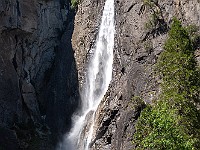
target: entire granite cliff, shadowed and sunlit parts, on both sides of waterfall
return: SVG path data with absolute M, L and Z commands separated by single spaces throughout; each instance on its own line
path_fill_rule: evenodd
M 105 0 L 1 0 L 0 149 L 54 149 L 71 127 Z M 135 123 L 159 93 L 153 68 L 173 17 L 200 26 L 199 0 L 115 1 L 113 79 L 91 149 L 133 149 Z M 156 18 L 155 12 L 160 12 Z M 199 45 L 196 59 L 200 64 Z

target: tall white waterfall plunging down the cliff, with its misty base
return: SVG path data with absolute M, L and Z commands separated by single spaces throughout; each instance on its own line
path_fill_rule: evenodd
M 57 150 L 88 150 L 93 138 L 95 112 L 112 79 L 114 0 L 106 0 L 95 48 L 92 49 L 82 95 L 82 108 L 72 117 L 73 127 Z

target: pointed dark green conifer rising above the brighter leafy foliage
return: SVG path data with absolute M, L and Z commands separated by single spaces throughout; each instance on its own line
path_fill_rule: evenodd
M 194 100 L 198 97 L 200 73 L 196 67 L 190 36 L 178 20 L 174 20 L 157 68 L 163 78 L 163 90 L 173 88 L 185 92 Z

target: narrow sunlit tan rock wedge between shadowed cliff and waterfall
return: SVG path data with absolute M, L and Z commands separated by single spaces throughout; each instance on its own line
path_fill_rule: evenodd
M 84 83 L 87 62 L 94 48 L 105 0 L 83 0 L 74 21 L 72 47 L 75 51 L 80 87 Z

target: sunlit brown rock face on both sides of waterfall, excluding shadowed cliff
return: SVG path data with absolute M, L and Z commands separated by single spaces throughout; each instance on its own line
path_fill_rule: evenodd
M 144 108 L 136 99 L 139 97 L 151 103 L 159 93 L 159 79 L 153 70 L 173 17 L 184 25 L 200 26 L 198 0 L 156 0 L 152 3 L 153 7 L 142 0 L 115 1 L 113 80 L 96 113 L 91 149 L 134 149 L 134 124 Z M 101 14 L 96 12 L 102 11 L 103 4 L 103 1 L 83 0 L 78 8 L 72 43 L 80 81 L 84 81 L 83 68 L 87 68 L 87 55 L 98 32 Z M 152 17 L 155 12 L 158 12 L 156 19 Z M 198 52 L 196 56 L 199 59 Z

